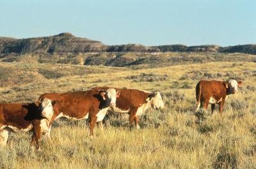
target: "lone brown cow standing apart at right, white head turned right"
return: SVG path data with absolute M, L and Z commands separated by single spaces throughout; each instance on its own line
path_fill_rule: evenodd
M 209 103 L 211 103 L 211 111 L 213 113 L 215 109 L 215 103 L 220 105 L 219 111 L 222 115 L 223 105 L 228 95 L 235 94 L 238 91 L 238 87 L 241 87 L 242 82 L 236 80 L 228 81 L 207 81 L 201 80 L 196 84 L 196 105 L 198 108 L 207 109 Z

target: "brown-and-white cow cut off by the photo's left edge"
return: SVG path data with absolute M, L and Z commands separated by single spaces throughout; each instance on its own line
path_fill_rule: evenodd
M 40 103 L 0 103 L 0 145 L 6 146 L 8 131 L 17 133 L 33 129 L 31 146 L 40 150 L 40 134 L 47 132 L 53 112 L 40 114 L 38 107 L 47 105 L 51 108 L 52 104 L 49 99 Z

